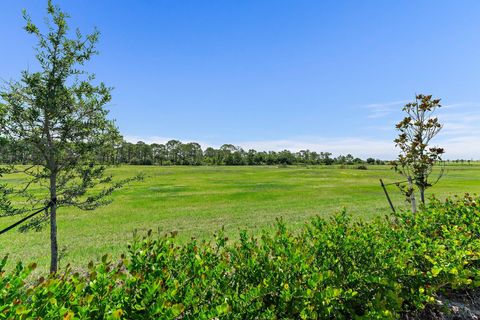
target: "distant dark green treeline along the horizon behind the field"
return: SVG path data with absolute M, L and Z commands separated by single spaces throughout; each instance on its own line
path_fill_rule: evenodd
M 32 152 L 26 142 L 0 141 L 0 162 L 27 164 L 35 163 L 38 155 Z M 301 150 L 245 151 L 232 144 L 224 144 L 219 149 L 202 149 L 196 142 L 182 143 L 170 140 L 165 144 L 122 142 L 114 147 L 106 147 L 98 155 L 101 163 L 134 165 L 291 165 L 291 164 L 383 164 L 379 159 L 366 161 L 351 154 L 332 157 L 329 152 Z

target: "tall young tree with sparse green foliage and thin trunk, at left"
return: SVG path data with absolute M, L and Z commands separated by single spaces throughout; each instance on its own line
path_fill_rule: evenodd
M 48 214 L 32 220 L 27 228 L 49 222 L 50 271 L 56 272 L 57 210 L 66 206 L 93 210 L 109 203 L 111 192 L 126 181 L 113 183 L 104 174 L 106 168 L 96 163 L 99 150 L 121 141 L 104 108 L 110 88 L 93 84 L 94 76 L 81 70 L 97 54 L 99 33 L 83 36 L 77 29 L 70 37 L 69 16 L 51 1 L 47 13 L 47 29 L 42 33 L 24 12 L 25 30 L 38 40 L 40 71 L 24 71 L 21 80 L 7 83 L 0 92 L 0 136 L 28 143 L 38 154 L 32 165 L 13 165 L 9 172 L 27 177 L 25 185 L 16 189 L 17 196 L 26 197 L 31 207 L 48 207 Z M 30 191 L 32 186 L 35 192 Z M 94 187 L 100 191 L 94 192 Z

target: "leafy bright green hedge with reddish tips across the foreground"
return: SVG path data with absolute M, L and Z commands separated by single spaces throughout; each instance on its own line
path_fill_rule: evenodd
M 182 246 L 148 235 L 119 261 L 33 283 L 35 266 L 18 264 L 0 273 L 0 318 L 395 319 L 480 286 L 476 201 L 432 199 L 417 216 L 372 223 L 340 213 L 295 234 L 278 222 L 233 243 L 221 233 Z

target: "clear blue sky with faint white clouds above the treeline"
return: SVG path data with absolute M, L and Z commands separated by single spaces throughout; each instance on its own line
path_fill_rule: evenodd
M 480 158 L 479 1 L 56 1 L 101 54 L 130 141 L 310 148 L 392 158 L 415 93 L 442 98 L 437 143 Z M 0 2 L 0 79 L 36 67 L 21 10 Z

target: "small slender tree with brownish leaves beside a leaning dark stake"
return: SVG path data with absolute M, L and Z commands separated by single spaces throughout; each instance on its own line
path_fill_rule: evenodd
M 393 162 L 393 167 L 409 182 L 404 191 L 410 198 L 413 212 L 417 210 L 414 186 L 418 188 L 422 204 L 425 204 L 425 190 L 438 182 L 443 173 L 442 169 L 436 181 L 430 181 L 433 168 L 442 160 L 444 153 L 442 148 L 429 146 L 442 129 L 438 118 L 434 116 L 440 107 L 440 99 L 432 99 L 431 95 L 417 95 L 414 102 L 405 105 L 403 111 L 407 115 L 396 125 L 400 134 L 395 143 L 400 148 L 400 154 Z

